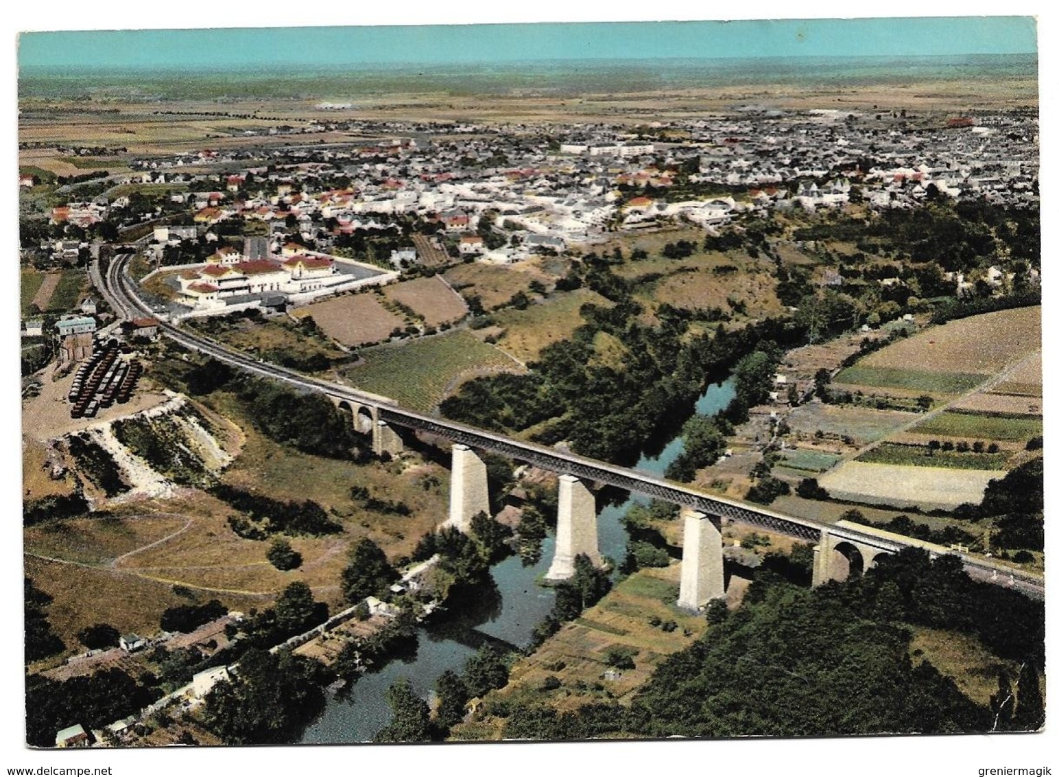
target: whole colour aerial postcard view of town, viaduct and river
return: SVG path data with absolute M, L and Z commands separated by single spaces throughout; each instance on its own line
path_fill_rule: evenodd
M 30 747 L 1043 727 L 1031 18 L 24 33 L 17 121 Z

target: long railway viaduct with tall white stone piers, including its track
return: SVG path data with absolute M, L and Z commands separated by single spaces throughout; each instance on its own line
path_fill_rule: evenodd
M 131 317 L 151 314 L 151 308 L 140 299 L 134 284 L 127 276 L 126 261 L 112 262 L 105 278 L 97 270 L 94 272 L 93 277 L 100 281 L 100 290 L 122 315 Z M 450 440 L 452 482 L 449 490 L 449 515 L 445 526 L 467 532 L 470 520 L 477 513 L 489 511 L 486 467 L 475 453 L 478 451 L 489 451 L 556 473 L 559 476 L 556 545 L 546 575 L 546 579 L 551 581 L 572 577 L 574 559 L 579 554 L 587 555 L 593 564 L 604 563 L 598 548 L 596 500 L 592 491 L 600 485 L 612 485 L 680 506 L 684 542 L 678 603 L 692 611 L 703 607 L 712 599 L 724 596 L 721 544 L 723 522 L 747 524 L 811 543 L 813 585 L 862 573 L 881 557 L 895 553 L 903 547 L 925 548 L 932 555 L 951 552 L 941 546 L 846 522 L 824 524 L 783 515 L 759 505 L 707 495 L 683 483 L 628 467 L 401 408 L 388 398 L 255 359 L 164 321 L 160 323 L 159 331 L 185 348 L 233 367 L 282 381 L 302 390 L 323 393 L 340 410 L 352 414 L 354 427 L 371 437 L 372 451 L 377 455 L 401 453 L 403 442 L 396 431 L 397 427 L 413 434 L 426 432 Z M 997 566 L 987 560 L 963 553 L 957 555 L 965 569 L 976 571 L 980 579 L 984 579 L 983 571 L 992 572 L 989 580 L 1001 582 Z M 1004 571 L 1005 575 L 1008 573 L 1008 570 Z M 1004 582 L 1013 585 L 1015 575 L 1010 575 L 1009 580 L 1005 577 Z M 1043 585 L 1033 576 L 1020 575 L 1020 583 L 1030 593 L 1040 587 L 1043 595 Z

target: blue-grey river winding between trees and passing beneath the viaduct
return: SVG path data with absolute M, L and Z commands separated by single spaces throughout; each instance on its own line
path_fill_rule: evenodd
M 696 412 L 714 416 L 728 407 L 735 396 L 735 381 L 711 385 L 695 404 Z M 634 469 L 662 475 L 666 466 L 684 449 L 684 440 L 676 436 L 656 456 L 641 456 Z M 628 535 L 622 516 L 635 502 L 646 504 L 647 497 L 631 495 L 621 505 L 609 505 L 599 511 L 599 551 L 615 562 L 625 558 Z M 418 630 L 414 652 L 392 659 L 382 670 L 363 675 L 347 694 L 328 696 L 324 710 L 305 729 L 306 744 L 351 744 L 370 742 L 390 722 L 387 689 L 398 678 L 407 677 L 412 689 L 423 697 L 433 690 L 434 683 L 446 669 L 461 672 L 479 646 L 490 640 L 507 642 L 517 648 L 530 643 L 533 631 L 551 612 L 555 600 L 552 588 L 537 581 L 548 571 L 555 538 L 549 536 L 541 548 L 540 561 L 523 566 L 513 555 L 492 567 L 496 588 L 488 591 L 470 610 L 447 622 Z

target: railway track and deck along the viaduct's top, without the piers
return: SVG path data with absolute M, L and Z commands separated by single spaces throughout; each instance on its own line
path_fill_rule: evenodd
M 100 287 L 101 294 L 103 294 L 114 311 L 119 312 L 123 317 L 131 318 L 142 315 L 157 315 L 137 294 L 134 284 L 126 271 L 127 263 L 127 257 L 110 262 L 106 278 L 101 278 L 101 282 L 103 283 Z M 97 277 L 100 277 L 100 273 L 94 273 L 93 278 Z M 378 408 L 380 420 L 395 426 L 438 435 L 453 442 L 501 454 L 551 472 L 574 475 L 584 480 L 613 485 L 624 491 L 635 492 L 651 498 L 684 505 L 703 513 L 719 515 L 807 542 L 819 542 L 822 531 L 832 529 L 830 525 L 822 522 L 783 515 L 759 505 L 704 494 L 689 485 L 664 480 L 628 467 L 617 466 L 605 461 L 590 459 L 585 456 L 578 456 L 573 453 L 531 442 L 515 440 L 486 429 L 479 429 L 466 424 L 400 408 L 397 406 L 397 403 L 387 398 L 357 391 L 347 386 L 303 375 L 279 365 L 255 359 L 221 346 L 214 340 L 189 333 L 164 321 L 159 324 L 159 331 L 184 348 L 212 356 L 218 361 L 229 364 L 252 374 L 281 381 L 289 386 L 306 391 L 322 392 L 339 401 L 344 400 L 352 404 Z M 922 543 L 913 538 L 907 538 L 903 542 L 880 541 L 877 535 L 860 533 L 851 529 L 843 529 L 842 534 L 863 542 L 870 547 L 885 548 L 892 552 L 901 547 L 923 546 Z M 1012 576 L 1010 582 L 1012 586 L 1024 589 L 1029 594 L 1038 594 L 1039 591 L 1040 595 L 1043 595 L 1043 578 L 1023 571 L 1011 571 L 1009 568 L 994 564 L 987 559 L 963 553 L 955 554 L 961 557 L 965 568 L 974 570 L 975 575 L 984 573 L 991 582 L 1008 582 L 1008 576 Z M 992 575 L 993 570 L 998 570 L 995 579 Z M 1003 576 L 1003 580 L 1000 576 Z

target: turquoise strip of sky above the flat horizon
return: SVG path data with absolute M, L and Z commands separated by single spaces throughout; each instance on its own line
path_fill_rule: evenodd
M 28 32 L 19 65 L 203 68 L 261 64 L 511 63 L 1037 51 L 1031 17 L 452 24 Z

